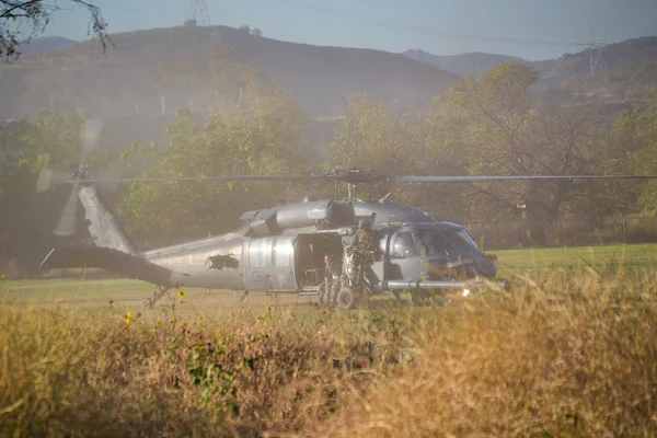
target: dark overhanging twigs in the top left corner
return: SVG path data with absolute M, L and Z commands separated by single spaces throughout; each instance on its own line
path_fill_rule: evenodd
M 84 8 L 89 12 L 89 34 L 99 38 L 104 51 L 110 36 L 107 23 L 105 23 L 100 8 L 84 0 L 65 1 Z M 20 54 L 16 51 L 16 47 L 43 33 L 50 23 L 53 14 L 60 9 L 58 3 L 49 3 L 44 0 L 0 0 L 0 57 L 18 58 Z M 23 28 L 30 31 L 24 32 Z

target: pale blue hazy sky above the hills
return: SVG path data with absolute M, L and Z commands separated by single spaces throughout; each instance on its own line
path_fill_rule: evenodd
M 169 27 L 191 16 L 189 0 L 94 3 L 111 32 Z M 59 4 L 69 8 L 64 0 Z M 487 51 L 533 60 L 580 51 L 585 46 L 558 43 L 586 44 L 606 30 L 610 43 L 657 35 L 657 0 L 207 0 L 207 5 L 210 24 L 257 26 L 276 39 L 437 55 Z M 45 34 L 84 39 L 87 28 L 88 15 L 70 7 Z

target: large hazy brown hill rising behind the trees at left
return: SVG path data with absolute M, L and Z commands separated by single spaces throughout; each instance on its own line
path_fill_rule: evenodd
M 177 87 L 166 90 L 168 111 L 173 111 L 186 106 L 191 83 L 206 93 L 216 91 L 216 83 L 203 83 L 198 70 L 206 68 L 199 64 L 211 50 L 222 48 L 231 48 L 231 57 L 290 92 L 313 117 L 333 114 L 355 92 L 414 108 L 457 79 L 401 54 L 286 43 L 226 26 L 137 31 L 113 39 L 115 47 L 106 56 L 97 44 L 84 42 L 27 54 L 0 68 L 0 93 L 5 96 L 0 118 L 50 107 L 83 107 L 99 116 L 161 112 L 161 90 L 155 90 L 152 74 L 163 64 L 178 65 Z M 232 92 L 237 96 L 238 88 Z

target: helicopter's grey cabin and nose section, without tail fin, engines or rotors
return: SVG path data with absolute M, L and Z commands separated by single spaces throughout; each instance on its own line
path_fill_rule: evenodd
M 299 292 L 324 279 L 324 256 L 345 261 L 356 227 L 295 230 L 278 235 L 208 238 L 143 253 L 171 269 L 172 284 L 209 289 Z M 379 252 L 371 265 L 379 289 L 418 281 L 494 279 L 497 268 L 466 231 L 449 222 L 378 224 Z M 442 243 L 442 246 L 439 244 Z M 434 245 L 434 246 L 433 246 Z M 436 247 L 435 247 L 436 246 Z M 348 263 L 341 263 L 347 275 Z M 404 287 L 406 288 L 406 287 Z

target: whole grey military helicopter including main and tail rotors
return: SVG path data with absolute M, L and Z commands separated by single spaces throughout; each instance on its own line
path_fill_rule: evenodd
M 92 142 L 87 132 L 83 150 Z M 88 152 L 85 152 L 88 153 Z M 69 183 L 71 197 L 55 230 L 71 235 L 76 230 L 78 198 L 84 207 L 85 226 L 93 247 L 55 247 L 42 268 L 95 267 L 150 283 L 157 287 L 143 301 L 152 308 L 175 288 L 195 287 L 318 295 L 323 306 L 351 309 L 377 295 L 411 292 L 416 304 L 431 295 L 470 295 L 473 290 L 499 289 L 496 256 L 482 252 L 468 231 L 435 220 L 414 207 L 381 199 L 358 199 L 359 184 L 373 182 L 477 182 L 495 180 L 653 178 L 635 175 L 533 175 L 533 176 L 413 176 L 384 175 L 368 170 L 344 169 L 318 175 L 219 175 L 166 178 L 92 178 L 87 164 L 67 178 L 42 171 L 37 192 Z M 140 251 L 125 231 L 99 184 L 161 181 L 326 181 L 348 186 L 344 199 L 303 198 L 302 201 L 241 216 L 233 232 L 166 247 Z M 357 266 L 351 241 L 359 223 L 367 221 L 379 242 L 373 263 Z M 337 261 L 337 275 L 327 275 L 325 261 Z M 364 275 L 362 269 L 368 275 Z M 366 278 L 367 277 L 367 278 Z

